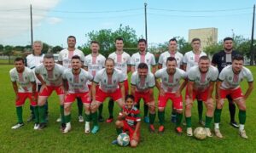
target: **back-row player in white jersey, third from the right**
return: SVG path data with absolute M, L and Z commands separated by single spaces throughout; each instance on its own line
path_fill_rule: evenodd
M 183 54 L 181 54 L 177 51 L 176 38 L 170 39 L 168 49 L 169 50 L 167 50 L 166 52 L 160 54 L 160 58 L 158 61 L 158 69 L 161 69 L 162 67 L 164 67 L 164 68 L 166 67 L 166 59 L 168 57 L 174 57 L 177 61 L 177 68 L 183 69 Z M 173 109 L 172 109 L 171 120 L 172 120 L 172 122 L 176 122 L 176 112 Z

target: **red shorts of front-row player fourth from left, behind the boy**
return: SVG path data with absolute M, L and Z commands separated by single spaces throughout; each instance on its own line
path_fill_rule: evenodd
M 96 91 L 96 101 L 103 102 L 106 98 L 110 97 L 113 101 L 122 99 L 120 88 L 116 89 L 113 93 L 105 93 L 102 89 L 98 88 Z

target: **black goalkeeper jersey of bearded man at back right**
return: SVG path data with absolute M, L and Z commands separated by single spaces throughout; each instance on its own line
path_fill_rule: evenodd
M 232 58 L 236 54 L 239 54 L 236 50 L 233 50 L 231 54 L 226 54 L 224 50 L 221 50 L 218 53 L 213 54 L 212 64 L 217 65 L 218 72 L 220 72 L 227 65 L 232 65 Z

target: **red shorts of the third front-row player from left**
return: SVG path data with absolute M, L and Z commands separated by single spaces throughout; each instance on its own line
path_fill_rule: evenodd
M 67 94 L 64 103 L 73 103 L 76 98 L 80 98 L 84 104 L 90 104 L 91 100 L 88 96 L 89 92 L 79 94 Z

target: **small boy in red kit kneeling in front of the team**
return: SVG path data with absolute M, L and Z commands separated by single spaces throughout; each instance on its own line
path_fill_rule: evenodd
M 119 112 L 118 121 L 115 122 L 115 125 L 117 133 L 127 131 L 130 136 L 131 147 L 137 147 L 140 139 L 141 117 L 140 111 L 135 107 L 132 95 L 125 97 L 125 105 Z M 112 144 L 117 144 L 117 140 L 113 140 Z

